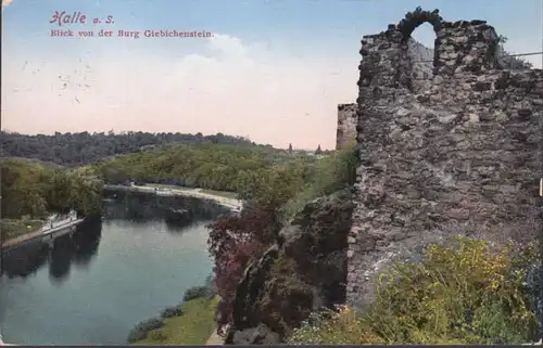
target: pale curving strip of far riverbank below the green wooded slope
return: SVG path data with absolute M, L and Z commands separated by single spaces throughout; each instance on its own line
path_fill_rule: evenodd
M 121 191 L 132 191 L 132 192 L 149 192 L 154 193 L 156 195 L 177 195 L 177 196 L 186 196 L 186 197 L 194 197 L 194 198 L 203 198 L 213 201 L 224 207 L 230 209 L 241 209 L 242 202 L 240 199 L 236 199 L 232 197 L 226 196 L 219 191 L 211 191 L 211 190 L 202 190 L 202 189 L 191 189 L 191 188 L 182 188 L 182 186 L 166 186 L 166 185 L 155 185 L 150 184 L 146 186 L 141 185 L 105 185 L 105 189 L 110 190 L 121 190 Z M 228 194 L 233 195 L 231 192 Z

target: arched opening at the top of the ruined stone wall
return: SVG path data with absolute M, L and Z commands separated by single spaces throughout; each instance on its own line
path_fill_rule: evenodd
M 407 39 L 407 54 L 413 63 L 412 79 L 427 80 L 433 76 L 435 31 L 429 23 L 422 23 Z

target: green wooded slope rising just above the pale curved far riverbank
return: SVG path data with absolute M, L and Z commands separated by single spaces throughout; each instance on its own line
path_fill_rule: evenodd
M 266 182 L 277 166 L 290 166 L 302 177 L 310 176 L 317 160 L 265 146 L 184 144 L 118 156 L 92 168 L 110 184 L 135 181 L 240 192 L 255 182 Z

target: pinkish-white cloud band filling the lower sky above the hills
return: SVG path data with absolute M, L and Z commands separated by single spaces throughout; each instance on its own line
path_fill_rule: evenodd
M 356 53 L 295 59 L 228 35 L 181 55 L 134 50 L 134 42 L 88 48 L 81 62 L 40 52 L 47 64 L 27 56 L 24 70 L 24 59 L 8 56 L 3 126 L 30 133 L 224 132 L 285 147 L 333 147 L 337 104 L 357 95 Z

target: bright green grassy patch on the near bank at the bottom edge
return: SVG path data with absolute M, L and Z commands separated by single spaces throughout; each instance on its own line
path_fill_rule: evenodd
M 205 345 L 215 330 L 218 296 L 195 298 L 182 304 L 184 314 L 167 318 L 161 328 L 149 332 L 146 339 L 135 345 Z

